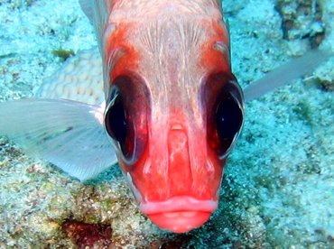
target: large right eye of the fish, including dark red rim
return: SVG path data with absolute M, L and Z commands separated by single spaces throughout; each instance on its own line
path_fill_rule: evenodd
M 231 73 L 209 75 L 200 91 L 202 112 L 207 119 L 209 146 L 226 158 L 237 141 L 244 122 L 244 97 Z

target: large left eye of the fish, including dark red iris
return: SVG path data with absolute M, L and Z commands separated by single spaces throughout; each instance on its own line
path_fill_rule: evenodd
M 123 75 L 113 80 L 107 97 L 105 127 L 118 155 L 129 166 L 146 148 L 149 107 L 150 95 L 142 78 Z

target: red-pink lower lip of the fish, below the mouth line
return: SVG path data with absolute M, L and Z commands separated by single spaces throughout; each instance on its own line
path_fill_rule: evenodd
M 148 215 L 148 217 L 156 226 L 181 234 L 202 226 L 210 215 L 209 212 L 179 211 Z

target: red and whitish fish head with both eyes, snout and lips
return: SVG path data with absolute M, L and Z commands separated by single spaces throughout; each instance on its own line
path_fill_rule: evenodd
M 116 23 L 105 46 L 107 134 L 141 211 L 175 233 L 218 207 L 244 116 L 225 26 L 197 21 Z

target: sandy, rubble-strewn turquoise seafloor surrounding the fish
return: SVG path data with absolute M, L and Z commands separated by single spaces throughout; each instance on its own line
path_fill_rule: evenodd
M 302 16 L 310 5 L 320 6 L 320 21 Z M 228 0 L 224 11 L 242 87 L 309 50 L 323 34 L 322 43 L 334 51 L 333 0 Z M 64 63 L 52 51 L 93 46 L 94 32 L 75 0 L 0 0 L 0 100 L 32 97 Z M 1 137 L 0 248 L 84 244 L 64 232 L 68 219 L 111 226 L 110 241 L 96 248 L 333 248 L 333 65 L 331 59 L 246 103 L 218 211 L 187 235 L 163 232 L 143 217 L 116 168 L 83 184 Z

